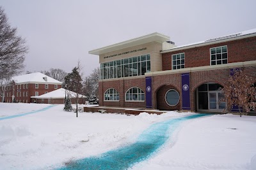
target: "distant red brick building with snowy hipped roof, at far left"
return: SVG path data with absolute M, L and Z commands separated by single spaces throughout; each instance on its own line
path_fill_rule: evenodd
M 34 103 L 35 97 L 47 94 L 61 88 L 61 81 L 55 80 L 42 73 L 31 73 L 12 78 L 12 82 L 6 86 L 4 97 L 7 103 L 12 103 L 13 99 L 17 103 Z

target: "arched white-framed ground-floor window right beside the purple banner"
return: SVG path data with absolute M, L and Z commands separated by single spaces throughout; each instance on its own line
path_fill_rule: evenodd
M 145 93 L 138 87 L 132 87 L 127 90 L 125 101 L 145 101 Z

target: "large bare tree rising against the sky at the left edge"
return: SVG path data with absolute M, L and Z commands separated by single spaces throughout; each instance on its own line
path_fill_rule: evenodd
M 17 28 L 10 26 L 0 6 L 0 79 L 6 74 L 14 76 L 19 73 L 24 67 L 26 53 L 25 39 L 17 36 Z

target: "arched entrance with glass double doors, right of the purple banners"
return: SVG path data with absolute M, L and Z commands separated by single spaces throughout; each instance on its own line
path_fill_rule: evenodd
M 197 110 L 222 112 L 226 103 L 222 101 L 221 85 L 218 83 L 205 83 L 196 89 Z

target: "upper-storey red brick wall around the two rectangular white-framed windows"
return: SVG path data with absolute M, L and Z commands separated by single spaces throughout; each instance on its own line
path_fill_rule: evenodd
M 185 53 L 185 67 L 210 66 L 210 48 L 227 45 L 228 63 L 256 60 L 256 37 L 163 53 L 163 71 L 172 69 L 172 55 Z

